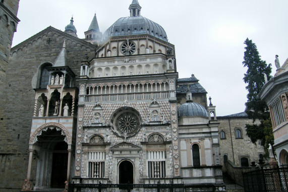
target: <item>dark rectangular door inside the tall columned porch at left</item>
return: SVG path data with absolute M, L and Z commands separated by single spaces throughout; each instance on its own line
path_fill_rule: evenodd
M 53 153 L 51 187 L 63 188 L 67 177 L 68 153 Z

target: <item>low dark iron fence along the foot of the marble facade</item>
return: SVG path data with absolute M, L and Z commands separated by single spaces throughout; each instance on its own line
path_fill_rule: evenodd
M 224 186 L 222 186 L 224 189 Z M 84 184 L 70 183 L 69 192 L 213 192 L 213 184 Z

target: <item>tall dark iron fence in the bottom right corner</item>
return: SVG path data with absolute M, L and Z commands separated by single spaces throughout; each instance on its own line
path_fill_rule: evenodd
M 288 168 L 260 169 L 243 173 L 246 192 L 288 191 Z

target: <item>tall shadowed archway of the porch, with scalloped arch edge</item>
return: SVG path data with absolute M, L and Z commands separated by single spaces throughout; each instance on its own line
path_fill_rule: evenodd
M 57 127 L 44 128 L 37 136 L 35 188 L 64 188 L 68 170 L 68 144 Z

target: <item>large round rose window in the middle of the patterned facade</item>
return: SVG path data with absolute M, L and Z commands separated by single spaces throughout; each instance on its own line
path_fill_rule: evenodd
M 141 119 L 136 110 L 125 108 L 114 113 L 111 123 L 115 134 L 121 137 L 131 137 L 139 131 Z

